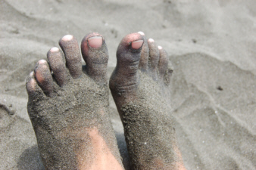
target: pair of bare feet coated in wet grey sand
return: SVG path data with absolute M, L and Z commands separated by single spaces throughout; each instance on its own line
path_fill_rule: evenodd
M 28 113 L 46 169 L 123 169 L 108 109 L 108 48 L 98 33 L 51 48 L 27 79 Z M 167 53 L 143 32 L 117 49 L 109 85 L 133 169 L 185 169 L 170 116 Z

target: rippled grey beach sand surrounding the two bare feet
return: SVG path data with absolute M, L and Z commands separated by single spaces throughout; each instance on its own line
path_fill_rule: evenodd
M 143 31 L 167 50 L 186 168 L 255 169 L 255 6 L 254 0 L 0 0 L 0 169 L 43 169 L 25 79 L 62 36 L 80 42 L 92 31 L 108 44 L 108 76 L 117 45 L 130 32 Z M 127 166 L 122 125 L 110 100 Z

